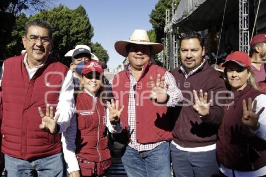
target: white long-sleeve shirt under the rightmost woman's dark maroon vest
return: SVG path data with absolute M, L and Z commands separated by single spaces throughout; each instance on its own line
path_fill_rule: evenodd
M 259 138 L 266 141 L 266 103 L 265 103 L 266 95 L 260 94 L 254 100 L 257 100 L 256 113 L 258 113 L 258 111 L 263 107 L 265 107 L 265 109 L 260 114 L 259 119 L 258 119 L 258 122 L 260 124 L 259 129 L 254 131 L 253 133 L 257 135 Z M 252 102 L 252 108 L 253 108 L 254 100 Z M 238 170 L 233 171 L 232 169 L 228 169 L 222 164 L 220 164 L 220 171 L 227 176 L 233 176 L 233 172 L 236 177 L 263 176 L 263 175 L 266 175 L 266 166 L 256 171 L 243 172 L 243 171 L 238 171 Z

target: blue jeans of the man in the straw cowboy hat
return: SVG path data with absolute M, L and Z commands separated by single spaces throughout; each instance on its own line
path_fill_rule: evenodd
M 127 146 L 122 156 L 122 163 L 129 177 L 169 177 L 171 176 L 169 142 L 143 152 Z

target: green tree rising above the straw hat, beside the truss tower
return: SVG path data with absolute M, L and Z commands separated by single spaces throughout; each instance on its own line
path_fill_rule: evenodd
M 155 9 L 151 10 L 150 14 L 150 23 L 152 24 L 152 28 L 156 33 L 156 42 L 161 43 L 161 38 L 164 38 L 164 27 L 165 27 L 165 11 L 166 9 L 172 9 L 173 0 L 159 0 L 155 5 Z M 180 0 L 176 0 L 177 4 Z M 172 14 L 170 13 L 170 19 Z

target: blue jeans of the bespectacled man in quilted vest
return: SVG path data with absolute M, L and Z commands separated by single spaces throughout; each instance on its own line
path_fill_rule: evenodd
M 55 154 L 36 160 L 23 160 L 5 154 L 5 169 L 8 177 L 30 177 L 34 171 L 38 177 L 63 177 L 63 154 Z

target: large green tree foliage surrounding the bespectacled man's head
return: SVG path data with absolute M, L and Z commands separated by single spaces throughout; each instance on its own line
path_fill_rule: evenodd
M 76 45 L 91 46 L 92 44 L 93 27 L 90 24 L 86 10 L 82 6 L 72 10 L 60 4 L 51 10 L 41 10 L 29 18 L 23 13 L 18 16 L 11 40 L 7 44 L 7 57 L 18 55 L 21 52 L 23 49 L 21 37 L 24 35 L 24 27 L 34 19 L 43 19 L 50 23 L 53 28 L 54 39 L 52 56 L 66 66 L 69 66 L 71 59 L 64 57 L 65 53 Z

